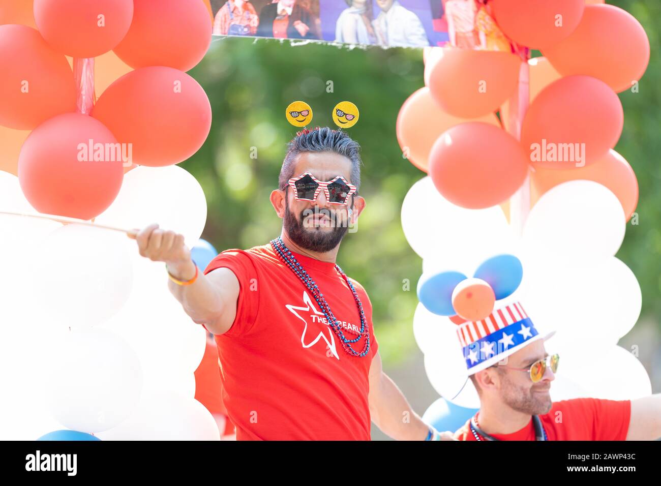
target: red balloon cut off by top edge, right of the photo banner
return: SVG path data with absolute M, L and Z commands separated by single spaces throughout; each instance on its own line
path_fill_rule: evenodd
M 584 0 L 493 0 L 489 5 L 502 32 L 531 49 L 566 38 L 585 8 Z

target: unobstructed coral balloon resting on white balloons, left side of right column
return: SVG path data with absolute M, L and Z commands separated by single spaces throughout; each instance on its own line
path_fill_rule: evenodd
M 525 180 L 527 157 L 510 134 L 483 122 L 446 130 L 429 155 L 429 175 L 438 192 L 463 208 L 503 202 Z

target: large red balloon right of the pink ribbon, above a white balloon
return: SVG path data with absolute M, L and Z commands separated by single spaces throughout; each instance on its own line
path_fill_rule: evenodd
M 154 66 L 131 71 L 112 83 L 92 116 L 117 140 L 132 143 L 134 163 L 163 167 L 198 151 L 209 134 L 212 114 L 195 79 L 172 67 Z

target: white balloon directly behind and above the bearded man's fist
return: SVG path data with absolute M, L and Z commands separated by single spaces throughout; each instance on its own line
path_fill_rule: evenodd
M 184 235 L 194 247 L 206 224 L 207 205 L 200 183 L 178 167 L 136 167 L 126 173 L 120 193 L 95 222 L 125 229 L 158 223 Z

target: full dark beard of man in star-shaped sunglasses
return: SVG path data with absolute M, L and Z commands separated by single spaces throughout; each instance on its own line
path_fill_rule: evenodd
M 346 230 L 348 229 L 348 224 L 341 219 L 338 221 L 336 214 L 331 212 L 331 210 L 320 210 L 319 214 L 323 214 L 331 220 L 329 223 L 331 231 L 324 231 L 321 227 L 304 227 L 303 218 L 308 216 L 310 212 L 314 210 L 315 208 L 308 208 L 301 211 L 299 219 L 297 220 L 293 216 L 293 213 L 290 212 L 289 206 L 285 206 L 285 230 L 290 239 L 299 247 L 305 248 L 306 250 L 325 253 L 331 251 L 334 247 L 340 244 L 340 241 L 342 241 L 342 238 L 344 237 L 344 233 L 346 233 Z

